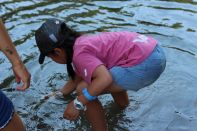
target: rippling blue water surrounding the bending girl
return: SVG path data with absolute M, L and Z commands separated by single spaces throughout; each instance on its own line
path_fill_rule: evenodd
M 32 74 L 26 92 L 14 91 L 11 65 L 0 53 L 0 88 L 13 101 L 27 130 L 90 130 L 83 115 L 76 121 L 63 119 L 66 100 L 43 96 L 67 81 L 64 65 L 47 59 L 38 64 L 34 31 L 48 18 L 60 18 L 72 28 L 87 32 L 135 31 L 152 35 L 164 48 L 167 68 L 149 88 L 129 92 L 131 104 L 124 111 L 110 95 L 100 97 L 110 130 L 194 131 L 197 129 L 197 1 L 38 1 L 1 0 L 0 15 L 25 65 Z

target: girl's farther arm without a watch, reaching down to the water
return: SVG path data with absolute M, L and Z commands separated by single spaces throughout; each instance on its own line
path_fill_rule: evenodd
M 68 82 L 63 86 L 63 88 L 60 89 L 60 91 L 64 95 L 70 94 L 76 89 L 76 87 L 80 81 L 82 81 L 82 78 L 80 76 L 76 75 L 75 80 L 69 79 Z

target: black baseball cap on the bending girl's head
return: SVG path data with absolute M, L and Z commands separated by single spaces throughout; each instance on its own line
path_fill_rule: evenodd
M 61 31 L 64 25 L 65 23 L 59 19 L 48 19 L 36 30 L 35 39 L 40 50 L 40 64 L 44 62 L 45 56 L 49 52 L 60 46 L 65 40 L 65 35 Z

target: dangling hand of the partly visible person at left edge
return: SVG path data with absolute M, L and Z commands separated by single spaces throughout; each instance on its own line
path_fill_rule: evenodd
M 12 70 L 15 75 L 15 80 L 17 83 L 20 83 L 21 81 L 23 82 L 22 86 L 18 86 L 16 89 L 20 91 L 24 91 L 30 86 L 30 79 L 31 75 L 24 66 L 23 63 L 17 64 L 12 67 Z

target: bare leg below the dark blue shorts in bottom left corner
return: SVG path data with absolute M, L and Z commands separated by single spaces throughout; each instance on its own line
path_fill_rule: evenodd
M 24 127 L 20 117 L 15 112 L 14 115 L 13 115 L 12 120 L 1 131 L 25 131 L 25 127 Z

